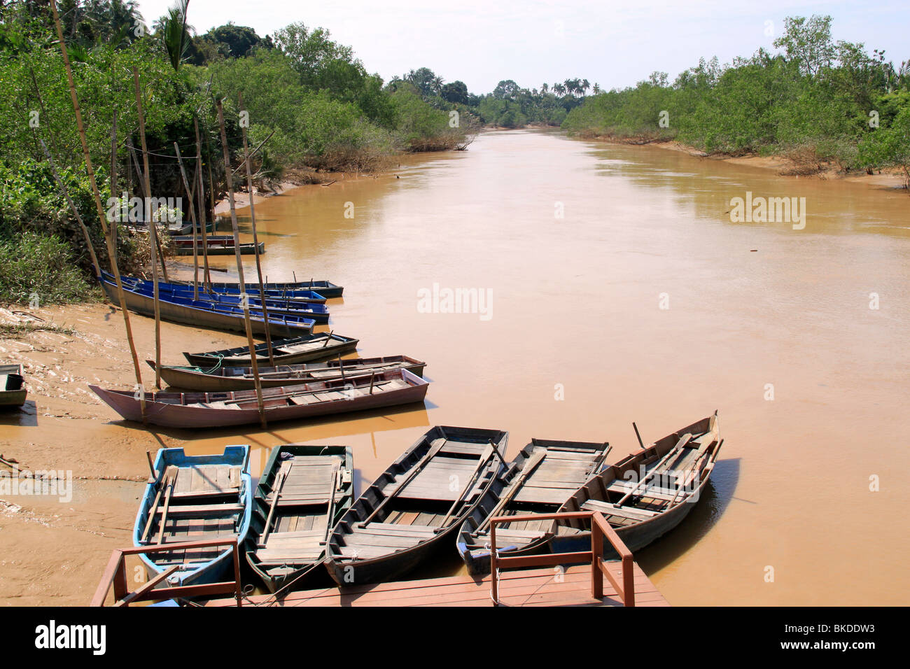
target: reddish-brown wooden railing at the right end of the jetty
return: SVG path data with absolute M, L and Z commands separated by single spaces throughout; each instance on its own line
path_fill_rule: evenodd
M 504 522 L 549 521 L 589 518 L 591 519 L 591 550 L 583 552 L 557 552 L 542 555 L 515 555 L 500 557 L 496 551 L 496 525 Z M 622 579 L 617 578 L 611 567 L 613 563 L 603 560 L 603 538 L 612 543 L 613 549 L 622 560 Z M 610 526 L 600 512 L 544 513 L 527 516 L 497 516 L 490 519 L 490 595 L 493 603 L 500 603 L 499 569 L 501 567 L 543 567 L 552 564 L 591 563 L 591 596 L 603 599 L 603 577 L 612 584 L 624 606 L 635 605 L 635 563 L 632 551 L 626 548 L 619 534 Z M 620 581 L 622 580 L 622 583 Z

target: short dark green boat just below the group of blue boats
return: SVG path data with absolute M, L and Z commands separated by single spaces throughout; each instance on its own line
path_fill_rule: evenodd
M 343 337 L 331 332 L 319 332 L 303 337 L 293 337 L 282 340 L 272 340 L 272 357 L 276 364 L 292 365 L 300 362 L 316 362 L 337 358 L 342 353 L 357 350 L 360 340 L 353 337 Z M 268 346 L 257 344 L 256 360 L 268 362 Z M 210 350 L 206 353 L 183 354 L 187 362 L 202 369 L 215 367 L 249 367 L 252 359 L 249 357 L 247 346 L 238 346 L 234 349 Z

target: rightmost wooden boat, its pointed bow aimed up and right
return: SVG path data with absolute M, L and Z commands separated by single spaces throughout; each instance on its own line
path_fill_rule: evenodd
M 670 532 L 692 511 L 722 445 L 715 411 L 604 468 L 571 495 L 560 511 L 602 512 L 629 550 L 637 551 Z M 566 522 L 550 546 L 552 552 L 591 550 L 591 532 L 584 522 Z M 607 541 L 603 551 L 607 556 L 616 555 Z

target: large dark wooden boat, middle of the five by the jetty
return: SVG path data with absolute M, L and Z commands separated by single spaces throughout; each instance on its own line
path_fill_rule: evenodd
M 354 502 L 332 531 L 326 567 L 339 585 L 394 581 L 454 533 L 496 481 L 509 433 L 434 427 Z

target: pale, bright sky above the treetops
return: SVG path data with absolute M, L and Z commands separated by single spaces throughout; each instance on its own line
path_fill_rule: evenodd
M 172 0 L 140 0 L 147 23 Z M 344 3 L 191 0 L 197 32 L 233 21 L 267 35 L 295 21 L 328 28 L 352 46 L 369 72 L 385 80 L 427 66 L 446 81 L 460 79 L 486 93 L 501 79 L 536 87 L 587 78 L 603 88 L 632 86 L 653 70 L 671 79 L 699 56 L 751 56 L 772 49 L 787 15 L 832 15 L 834 39 L 885 48 L 895 62 L 910 59 L 907 0 L 781 2 L 761 0 L 632 0 L 629 2 L 474 2 L 380 0 Z M 766 22 L 771 22 L 767 24 Z

